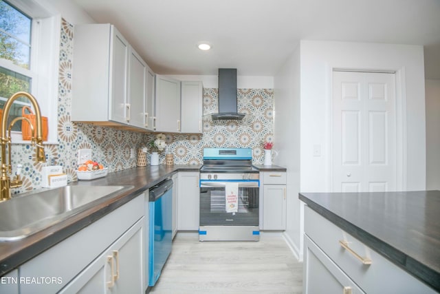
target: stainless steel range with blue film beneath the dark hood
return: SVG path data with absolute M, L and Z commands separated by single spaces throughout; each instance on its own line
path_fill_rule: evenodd
M 199 240 L 258 241 L 259 187 L 252 149 L 203 149 Z

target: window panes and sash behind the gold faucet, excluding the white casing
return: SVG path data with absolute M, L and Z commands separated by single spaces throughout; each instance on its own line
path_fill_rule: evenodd
M 19 91 L 32 92 L 31 57 L 32 19 L 9 3 L 0 0 L 0 107 L 12 94 Z M 21 68 L 19 68 L 21 67 Z M 23 106 L 30 106 L 26 98 L 18 98 L 12 105 L 8 125 L 21 116 Z M 21 120 L 12 127 L 21 131 Z

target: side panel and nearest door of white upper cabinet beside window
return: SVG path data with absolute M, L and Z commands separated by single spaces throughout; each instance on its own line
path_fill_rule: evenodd
M 109 24 L 75 26 L 72 120 L 126 123 L 129 43 Z

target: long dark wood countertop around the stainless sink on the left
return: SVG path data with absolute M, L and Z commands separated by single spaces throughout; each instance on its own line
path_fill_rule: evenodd
M 91 207 L 26 238 L 0 242 L 0 276 L 12 271 L 12 269 L 17 268 L 58 242 L 65 240 L 65 238 L 80 231 L 80 229 L 87 227 L 148 188 L 153 187 L 168 176 L 172 176 L 175 172 L 199 171 L 199 169 L 199 165 L 136 167 L 109 173 L 106 177 L 96 180 L 72 182 L 70 185 L 131 185 L 133 188 L 122 193 L 116 193 L 114 197 L 100 202 L 95 207 Z

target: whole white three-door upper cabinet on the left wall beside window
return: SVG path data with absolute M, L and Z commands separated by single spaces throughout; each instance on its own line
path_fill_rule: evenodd
M 155 74 L 110 24 L 75 26 L 72 120 L 153 130 Z

